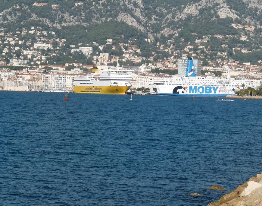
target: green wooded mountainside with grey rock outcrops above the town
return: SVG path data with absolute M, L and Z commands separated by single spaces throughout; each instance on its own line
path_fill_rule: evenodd
M 220 46 L 226 44 L 229 50 L 255 51 L 262 45 L 261 8 L 260 0 L 4 0 L 0 27 L 14 32 L 41 26 L 68 44 L 131 40 L 140 43 L 143 52 L 152 52 L 158 42 L 164 49 L 179 51 L 209 35 L 211 50 L 222 51 Z M 237 29 L 233 23 L 246 27 Z M 252 31 L 246 29 L 250 26 Z M 247 40 L 241 40 L 241 35 Z M 145 43 L 147 38 L 151 43 Z

